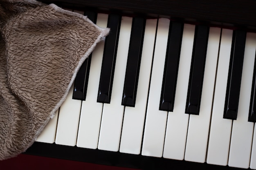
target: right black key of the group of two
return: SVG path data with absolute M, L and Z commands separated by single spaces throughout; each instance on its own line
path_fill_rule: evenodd
M 185 113 L 188 114 L 199 115 L 208 37 L 208 26 L 198 25 L 195 27 L 195 39 L 185 110 Z

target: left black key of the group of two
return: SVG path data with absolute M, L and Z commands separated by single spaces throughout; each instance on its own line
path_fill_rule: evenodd
M 183 26 L 179 22 L 170 25 L 159 110 L 173 111 Z

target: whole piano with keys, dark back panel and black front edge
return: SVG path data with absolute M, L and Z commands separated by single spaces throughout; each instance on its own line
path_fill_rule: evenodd
M 256 169 L 256 2 L 43 0 L 111 33 L 25 154 Z

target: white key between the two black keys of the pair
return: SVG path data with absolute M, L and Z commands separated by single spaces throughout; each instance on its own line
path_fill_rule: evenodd
M 180 64 L 173 112 L 168 113 L 164 141 L 164 158 L 184 159 L 189 114 L 185 114 L 186 97 L 195 35 L 195 25 L 184 24 Z

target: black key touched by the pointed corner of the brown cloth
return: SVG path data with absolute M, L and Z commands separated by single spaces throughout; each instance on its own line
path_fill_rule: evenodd
M 108 16 L 107 27 L 111 31 L 105 40 L 97 102 L 110 103 L 120 24 L 121 16 L 116 14 L 110 14 Z

